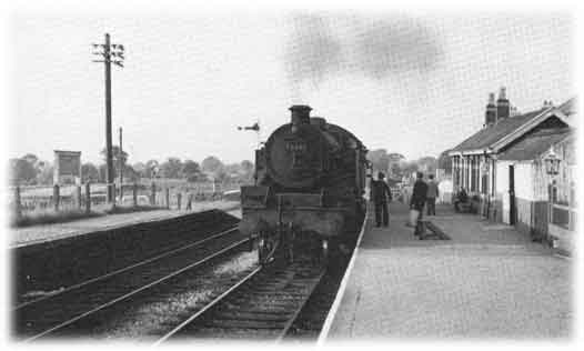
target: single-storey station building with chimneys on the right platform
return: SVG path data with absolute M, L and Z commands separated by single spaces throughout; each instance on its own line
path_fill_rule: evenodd
M 491 93 L 483 128 L 449 151 L 454 191 L 464 188 L 483 217 L 573 251 L 576 116 L 575 99 L 520 114 L 505 88 L 496 101 Z

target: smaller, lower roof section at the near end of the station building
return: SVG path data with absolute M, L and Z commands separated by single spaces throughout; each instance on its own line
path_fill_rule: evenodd
M 501 152 L 499 160 L 526 161 L 534 160 L 550 149 L 551 146 L 562 141 L 572 132 L 568 127 L 561 129 L 543 129 L 527 134 L 507 150 Z

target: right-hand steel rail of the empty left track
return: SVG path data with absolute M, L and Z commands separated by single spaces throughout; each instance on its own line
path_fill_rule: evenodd
M 201 259 L 201 260 L 199 260 L 199 261 L 197 261 L 194 263 L 185 265 L 185 267 L 183 267 L 183 268 L 181 268 L 181 269 L 179 269 L 179 270 L 177 270 L 177 271 L 174 271 L 174 272 L 172 272 L 172 273 L 170 273 L 168 275 L 164 275 L 164 277 L 162 277 L 160 279 L 157 279 L 153 282 L 150 282 L 150 283 L 148 283 L 145 285 L 142 285 L 141 288 L 134 289 L 134 290 L 132 290 L 132 291 L 130 291 L 130 292 L 128 292 L 128 293 L 125 293 L 125 294 L 123 294 L 121 297 L 118 297 L 118 298 L 115 298 L 115 299 L 113 299 L 113 300 L 111 300 L 109 302 L 100 304 L 100 305 L 98 305 L 98 307 L 95 307 L 95 308 L 93 308 L 93 309 L 91 309 L 91 310 L 89 310 L 89 311 L 87 311 L 87 312 L 84 312 L 82 314 L 79 314 L 79 315 L 77 315 L 77 317 L 74 317 L 72 319 L 69 319 L 69 320 L 67 320 L 64 322 L 61 322 L 58 325 L 52 327 L 52 328 L 50 328 L 50 329 L 48 329 L 48 330 L 46 330 L 46 331 L 43 331 L 41 333 L 38 333 L 38 334 L 36 334 L 36 335 L 33 335 L 31 338 L 28 338 L 23 342 L 33 341 L 33 340 L 42 338 L 42 337 L 44 337 L 44 335 L 47 335 L 47 334 L 49 334 L 51 332 L 54 332 L 54 331 L 57 331 L 59 329 L 62 329 L 62 328 L 64 328 L 67 325 L 70 325 L 70 324 L 72 324 L 72 323 L 74 323 L 74 322 L 77 322 L 77 321 L 79 321 L 79 320 L 81 320 L 81 319 L 83 319 L 83 318 L 85 318 L 88 315 L 91 315 L 91 314 L 93 314 L 93 313 L 95 313 L 98 311 L 101 311 L 101 310 L 103 310 L 105 308 L 109 308 L 109 307 L 111 307 L 111 305 L 113 305 L 113 304 L 115 304 L 115 303 L 118 303 L 120 301 L 123 301 L 123 300 L 125 300 L 125 299 L 128 299 L 128 298 L 130 298 L 132 295 L 135 295 L 139 292 L 142 292 L 142 291 L 144 291 L 144 290 L 147 290 L 147 289 L 149 289 L 151 287 L 154 287 L 154 285 L 157 285 L 159 283 L 162 283 L 162 282 L 164 282 L 164 281 L 167 281 L 167 280 L 169 280 L 169 279 L 171 279 L 171 278 L 173 278 L 175 275 L 179 275 L 179 274 L 181 274 L 181 273 L 183 273 L 183 272 L 185 272 L 188 270 L 194 269 L 198 265 L 201 265 L 201 264 L 205 263 L 207 261 L 209 261 L 209 260 L 211 260 L 211 259 L 213 259 L 213 258 L 215 258 L 215 257 L 218 257 L 220 254 L 223 254 L 224 252 L 228 252 L 228 251 L 230 251 L 230 250 L 232 250 L 232 249 L 234 249 L 236 247 L 240 247 L 240 245 L 249 242 L 249 240 L 250 240 L 249 238 L 240 240 L 240 241 L 238 241 L 238 242 L 235 242 L 235 243 L 233 243 L 233 244 L 231 244 L 231 245 L 229 245 L 229 247 L 226 247 L 226 248 L 224 248 L 224 249 L 222 249 L 220 251 L 214 252 L 213 254 L 208 255 L 204 259 Z

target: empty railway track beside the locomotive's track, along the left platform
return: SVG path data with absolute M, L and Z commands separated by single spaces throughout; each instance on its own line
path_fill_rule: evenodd
M 169 284 L 246 243 L 249 238 L 232 228 L 58 293 L 20 303 L 12 310 L 14 333 L 31 341 L 75 329 L 84 320 L 143 297 L 147 291 Z

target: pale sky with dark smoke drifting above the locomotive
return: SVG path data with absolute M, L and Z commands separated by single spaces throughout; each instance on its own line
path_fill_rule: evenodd
M 292 104 L 370 149 L 439 156 L 482 128 L 490 92 L 520 112 L 575 96 L 568 12 L 200 11 L 42 13 L 10 19 L 8 156 L 81 151 L 101 162 L 103 63 L 91 43 L 125 48 L 112 67 L 113 143 L 130 163 L 178 157 L 253 160 Z

